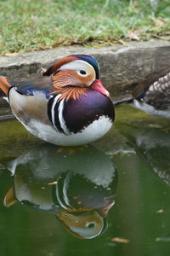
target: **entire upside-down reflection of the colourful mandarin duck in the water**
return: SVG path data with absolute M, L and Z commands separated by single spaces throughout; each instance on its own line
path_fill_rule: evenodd
M 94 238 L 107 228 L 114 205 L 117 172 L 99 149 L 44 145 L 10 162 L 14 185 L 4 204 L 15 202 L 54 212 L 73 236 Z

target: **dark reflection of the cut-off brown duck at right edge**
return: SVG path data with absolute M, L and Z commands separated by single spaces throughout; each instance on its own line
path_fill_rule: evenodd
M 170 131 L 122 125 L 122 133 L 131 142 L 139 157 L 170 186 Z

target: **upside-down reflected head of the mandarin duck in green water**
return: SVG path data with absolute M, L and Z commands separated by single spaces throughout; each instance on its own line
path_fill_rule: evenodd
M 107 230 L 107 215 L 115 201 L 107 205 L 93 208 L 68 208 L 60 211 L 58 218 L 72 236 L 82 239 L 92 239 L 101 236 Z

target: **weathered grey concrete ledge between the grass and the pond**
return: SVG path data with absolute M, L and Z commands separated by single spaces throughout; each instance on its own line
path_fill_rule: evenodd
M 65 55 L 94 55 L 99 61 L 103 84 L 110 90 L 111 97 L 117 99 L 126 96 L 123 90 L 126 84 L 139 81 L 157 68 L 170 65 L 169 40 L 170 37 L 167 40 L 152 39 L 149 42 L 115 44 L 98 49 L 70 46 L 5 55 L 0 57 L 0 75 L 8 77 L 9 80 L 23 80 L 37 73 L 40 67 L 49 67 Z

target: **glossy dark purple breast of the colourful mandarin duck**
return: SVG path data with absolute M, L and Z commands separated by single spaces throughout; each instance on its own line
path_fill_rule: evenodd
M 87 90 L 86 95 L 82 95 L 76 101 L 71 99 L 65 102 L 63 118 L 65 125 L 71 132 L 77 133 L 88 125 L 105 116 L 113 121 L 115 111 L 111 98 L 104 96 L 97 90 Z

